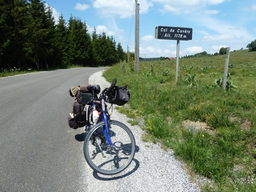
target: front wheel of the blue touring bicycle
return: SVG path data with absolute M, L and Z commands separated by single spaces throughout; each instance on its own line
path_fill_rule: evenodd
M 106 142 L 104 122 L 97 123 L 84 139 L 83 154 L 95 172 L 115 175 L 126 169 L 135 155 L 135 138 L 123 123 L 111 120 L 109 134 L 113 146 Z

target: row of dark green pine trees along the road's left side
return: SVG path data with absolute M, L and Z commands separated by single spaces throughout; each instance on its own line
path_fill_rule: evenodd
M 104 32 L 90 35 L 85 22 L 60 14 L 41 0 L 0 0 L 1 69 L 109 66 L 126 58 L 120 43 Z

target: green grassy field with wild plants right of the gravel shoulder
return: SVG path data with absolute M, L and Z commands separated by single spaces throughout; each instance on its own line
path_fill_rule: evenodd
M 132 124 L 143 120 L 143 140 L 172 148 L 203 191 L 254 191 L 256 173 L 256 52 L 230 52 L 227 89 L 222 88 L 226 55 L 119 63 L 103 73 L 129 84 L 129 106 L 119 111 Z M 207 178 L 201 182 L 198 176 Z

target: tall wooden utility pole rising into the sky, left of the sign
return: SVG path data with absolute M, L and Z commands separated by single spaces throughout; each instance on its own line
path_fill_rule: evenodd
M 134 71 L 139 72 L 139 58 L 140 58 L 140 47 L 139 47 L 139 12 L 140 12 L 140 4 L 138 4 L 138 0 L 136 2 L 135 9 L 135 58 L 134 58 Z

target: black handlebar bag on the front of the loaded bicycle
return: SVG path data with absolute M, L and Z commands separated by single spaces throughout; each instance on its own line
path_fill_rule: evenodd
M 124 105 L 130 99 L 130 92 L 127 90 L 128 85 L 125 86 L 115 86 L 114 90 L 109 95 L 109 103 L 117 104 L 117 105 Z

